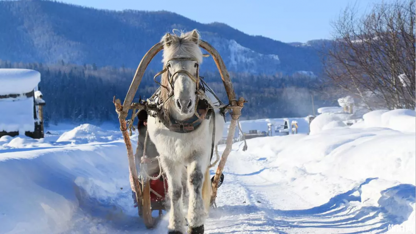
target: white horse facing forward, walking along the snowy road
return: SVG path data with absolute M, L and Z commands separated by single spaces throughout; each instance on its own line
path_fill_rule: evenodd
M 195 118 L 196 105 L 198 105 L 196 91 L 199 86 L 197 85 L 199 64 L 203 60 L 203 53 L 198 45 L 199 38 L 197 30 L 180 35 L 167 33 L 162 37 L 163 65 L 167 70 L 162 74 L 161 83 L 165 88 L 161 90 L 160 99 L 165 102 L 165 113 L 168 113 L 175 122 Z M 207 92 L 206 95 L 211 103 L 216 102 L 212 94 Z M 158 117 L 148 117 L 149 137 L 160 154 L 159 160 L 168 180 L 171 205 L 169 234 L 186 233 L 183 207 L 188 208 L 188 233 L 204 233 L 211 186 L 208 166 L 211 157 L 213 122 L 215 122 L 213 142 L 215 146 L 222 136 L 224 126 L 223 117 L 218 109 L 214 112 L 209 119 L 202 120 L 195 130 L 187 133 L 172 131 Z M 213 121 L 213 118 L 216 120 Z M 185 167 L 187 171 L 184 173 Z M 186 203 L 187 192 L 189 192 L 189 202 L 182 206 L 181 198 Z

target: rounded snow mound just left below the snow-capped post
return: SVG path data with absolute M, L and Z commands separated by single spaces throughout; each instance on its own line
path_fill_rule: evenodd
M 343 127 L 346 124 L 343 121 L 351 119 L 349 114 L 323 113 L 315 117 L 311 122 L 310 134 L 316 134 L 323 130 L 335 127 Z

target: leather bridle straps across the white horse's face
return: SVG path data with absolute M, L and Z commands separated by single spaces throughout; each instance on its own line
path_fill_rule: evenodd
M 196 67 L 197 67 L 197 77 L 195 78 L 190 72 L 188 72 L 187 70 L 183 70 L 183 69 L 181 69 L 181 70 L 178 70 L 178 71 L 176 71 L 175 73 L 173 73 L 173 74 L 171 74 L 171 72 L 169 71 L 169 67 L 168 67 L 168 65 L 169 65 L 169 62 L 170 61 L 172 61 L 172 60 L 174 60 L 174 61 L 196 61 L 197 63 L 195 64 L 196 65 Z M 171 59 L 169 59 L 167 62 L 166 62 L 166 65 L 165 65 L 165 68 L 162 70 L 162 71 L 160 71 L 160 72 L 158 72 L 154 77 L 153 77 L 153 80 L 157 83 L 157 84 L 159 84 L 161 87 L 163 87 L 163 88 L 165 88 L 165 89 L 167 89 L 168 91 L 169 91 L 169 88 L 168 87 L 166 87 L 166 86 L 164 86 L 164 85 L 162 85 L 160 82 L 158 82 L 157 80 L 156 80 L 156 77 L 158 77 L 158 76 L 160 76 L 160 75 L 162 75 L 163 73 L 165 73 L 165 72 L 168 72 L 168 83 L 169 83 L 169 85 L 170 85 L 170 93 L 169 93 L 169 97 L 171 97 L 171 96 L 173 96 L 174 95 L 174 88 L 173 88 L 173 81 L 174 81 L 174 78 L 175 78 L 175 76 L 176 75 L 178 75 L 179 73 L 185 73 L 189 78 L 191 78 L 191 80 L 193 81 L 193 82 L 195 82 L 196 83 L 196 92 L 200 89 L 200 75 L 199 75 L 199 73 L 200 73 L 200 64 L 198 63 L 198 59 L 196 59 L 196 58 L 189 58 L 189 57 L 178 57 L 178 58 L 171 58 Z

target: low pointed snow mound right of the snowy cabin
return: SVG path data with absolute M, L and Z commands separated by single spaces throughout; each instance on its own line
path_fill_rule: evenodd
M 98 126 L 85 123 L 74 129 L 64 132 L 56 142 L 70 141 L 77 144 L 85 144 L 90 142 L 109 142 L 115 139 L 115 135 L 119 132 L 104 131 Z

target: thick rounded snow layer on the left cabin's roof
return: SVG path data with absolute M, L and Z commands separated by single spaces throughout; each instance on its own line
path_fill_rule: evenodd
M 25 94 L 40 82 L 40 73 L 29 69 L 0 69 L 0 95 Z

